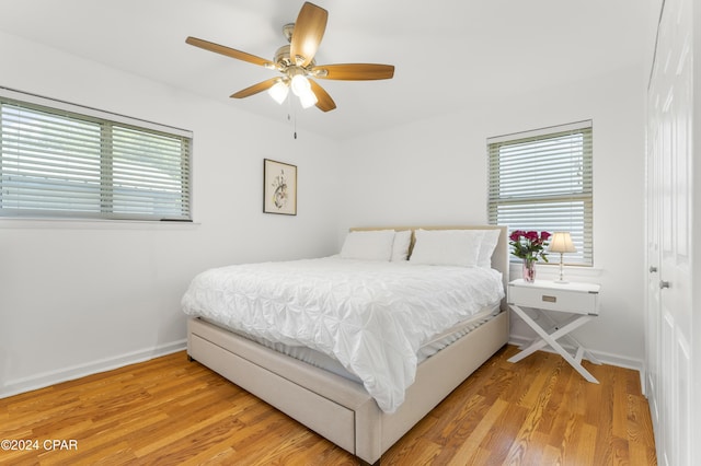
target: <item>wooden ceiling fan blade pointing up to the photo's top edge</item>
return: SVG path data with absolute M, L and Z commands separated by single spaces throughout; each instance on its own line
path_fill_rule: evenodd
M 304 2 L 295 22 L 295 31 L 290 40 L 289 55 L 295 62 L 296 57 L 301 57 L 298 66 L 306 67 L 317 55 L 321 38 L 326 31 L 329 12 L 313 3 Z

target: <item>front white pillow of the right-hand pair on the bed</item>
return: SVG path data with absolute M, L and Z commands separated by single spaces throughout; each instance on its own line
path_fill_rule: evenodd
M 484 234 L 474 230 L 417 230 L 410 263 L 472 267 Z

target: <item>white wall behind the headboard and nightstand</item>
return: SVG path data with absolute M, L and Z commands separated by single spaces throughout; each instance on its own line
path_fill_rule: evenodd
M 643 359 L 644 130 L 642 68 L 426 119 L 344 143 L 347 193 L 338 236 L 350 225 L 486 222 L 486 138 L 593 119 L 594 269 L 601 315 L 578 339 L 609 362 Z M 554 277 L 556 267 L 539 267 Z M 513 322 L 512 339 L 532 335 Z

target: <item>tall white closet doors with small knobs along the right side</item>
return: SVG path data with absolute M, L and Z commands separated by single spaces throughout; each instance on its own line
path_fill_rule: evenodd
M 691 465 L 692 0 L 667 0 L 648 88 L 646 392 L 662 465 Z M 699 345 L 699 342 L 696 342 Z M 698 396 L 698 395 L 697 395 Z

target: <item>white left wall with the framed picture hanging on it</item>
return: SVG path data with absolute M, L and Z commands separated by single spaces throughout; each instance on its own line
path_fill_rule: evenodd
M 337 142 L 2 33 L 0 56 L 2 86 L 195 135 L 195 224 L 0 219 L 0 396 L 182 348 L 205 268 L 336 251 Z M 298 215 L 262 213 L 264 158 L 298 166 Z

